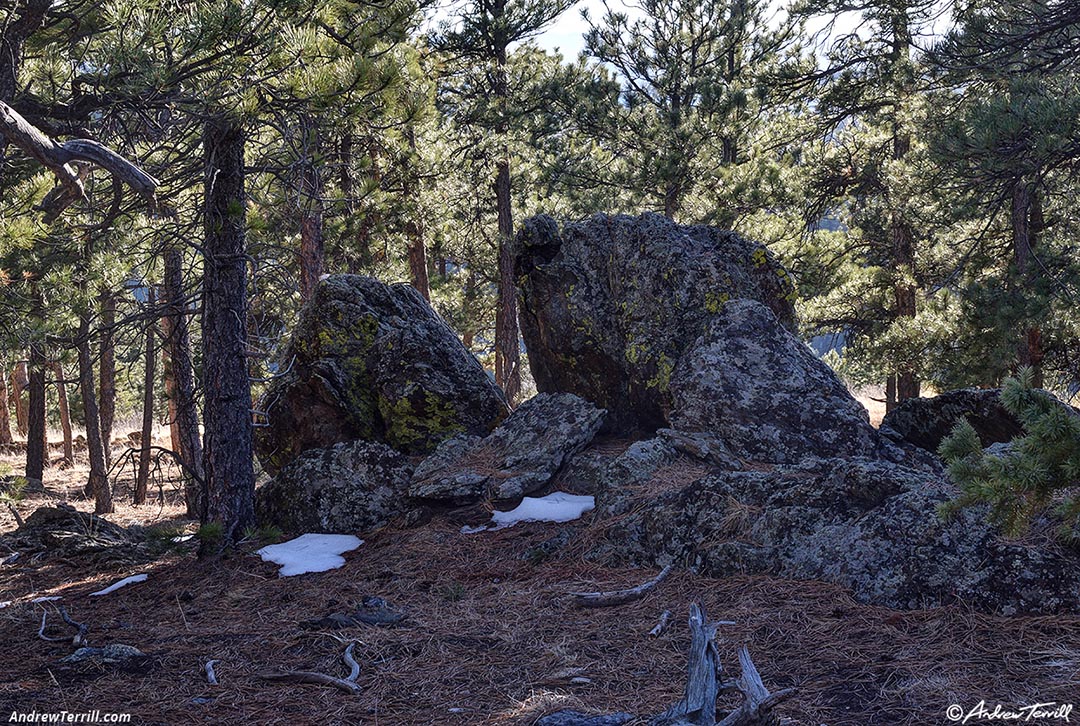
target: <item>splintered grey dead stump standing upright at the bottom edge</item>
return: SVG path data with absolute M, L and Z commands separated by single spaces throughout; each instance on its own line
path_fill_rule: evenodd
M 716 649 L 716 630 L 721 622 L 707 622 L 705 611 L 699 604 L 690 606 L 690 655 L 687 669 L 686 690 L 683 698 L 649 722 L 649 726 L 771 726 L 775 718 L 773 707 L 795 693 L 785 688 L 770 694 L 761 682 L 746 646 L 739 648 L 739 666 L 742 674 L 738 680 L 720 684 L 719 655 Z M 720 690 L 737 689 L 743 695 L 742 704 L 716 721 L 716 698 Z

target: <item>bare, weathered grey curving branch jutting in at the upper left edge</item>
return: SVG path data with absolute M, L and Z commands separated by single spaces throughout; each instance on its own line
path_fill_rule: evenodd
M 0 100 L 0 135 L 56 176 L 59 185 L 38 204 L 52 223 L 73 202 L 86 198 L 83 187 L 85 169 L 80 163 L 100 166 L 157 206 L 158 180 L 112 149 L 86 138 L 56 142 L 24 119 L 18 111 Z

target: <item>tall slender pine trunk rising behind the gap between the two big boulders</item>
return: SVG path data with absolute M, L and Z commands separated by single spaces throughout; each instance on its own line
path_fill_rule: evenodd
M 511 251 L 514 217 L 510 188 L 510 147 L 507 144 L 507 135 L 510 132 L 507 108 L 510 85 L 507 77 L 507 45 L 509 42 L 501 22 L 504 12 L 505 0 L 496 0 L 491 12 L 496 27 L 494 90 L 500 113 L 496 131 L 502 143 L 499 149 L 499 159 L 496 162 L 495 176 L 495 205 L 499 221 L 498 302 L 495 310 L 495 382 L 502 387 L 507 401 L 514 405 L 521 395 L 522 378 L 518 367 L 521 348 L 517 334 L 517 290 L 514 286 L 514 260 Z

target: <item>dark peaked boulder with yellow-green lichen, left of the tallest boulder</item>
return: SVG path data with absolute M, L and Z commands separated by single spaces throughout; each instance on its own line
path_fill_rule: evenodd
M 256 453 L 271 474 L 309 448 L 357 439 L 426 454 L 485 435 L 502 392 L 410 285 L 330 275 L 315 290 L 259 408 Z

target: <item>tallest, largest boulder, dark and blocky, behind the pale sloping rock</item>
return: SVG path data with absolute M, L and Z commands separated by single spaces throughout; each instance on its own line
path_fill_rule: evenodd
M 537 388 L 608 411 L 606 430 L 666 426 L 673 372 L 730 299 L 795 325 L 794 287 L 765 247 L 657 214 L 597 214 L 562 229 L 527 220 L 515 242 L 525 338 Z

